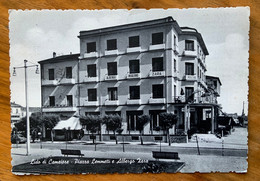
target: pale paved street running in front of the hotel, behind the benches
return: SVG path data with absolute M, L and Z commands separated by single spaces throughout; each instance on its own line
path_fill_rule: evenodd
M 185 162 L 185 167 L 181 172 L 207 172 L 209 170 L 242 172 L 247 169 L 246 134 L 245 128 L 239 128 L 225 137 L 224 152 L 222 152 L 222 142 L 199 142 L 200 155 L 198 155 L 196 142 L 174 143 L 171 146 L 168 146 L 167 143 L 161 143 L 161 150 L 179 153 L 180 161 Z M 239 137 L 240 139 L 237 139 Z M 123 152 L 123 145 L 116 145 L 115 142 L 98 143 L 96 151 L 92 141 L 71 141 L 67 146 L 66 142 L 37 142 L 31 144 L 30 156 L 25 156 L 26 144 L 14 144 L 12 145 L 12 164 L 17 165 L 30 162 L 32 159 L 49 156 L 61 156 L 60 149 L 66 147 L 67 149 L 79 149 L 85 157 L 91 158 L 142 158 L 154 160 L 152 151 L 159 151 L 160 143 L 144 144 L 140 145 L 140 142 L 127 143 L 125 144 L 125 152 Z

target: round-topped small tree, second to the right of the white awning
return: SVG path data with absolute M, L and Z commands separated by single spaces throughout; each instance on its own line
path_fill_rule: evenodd
M 107 130 L 113 131 L 114 137 L 115 137 L 115 140 L 116 140 L 116 144 L 118 144 L 117 137 L 116 137 L 116 131 L 118 129 L 120 129 L 121 126 L 122 126 L 122 118 L 118 114 L 116 114 L 116 115 L 105 115 L 103 117 L 103 121 L 104 121 L 104 123 L 107 127 Z

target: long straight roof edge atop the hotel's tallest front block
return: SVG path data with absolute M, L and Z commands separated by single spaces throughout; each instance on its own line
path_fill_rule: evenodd
M 100 34 L 108 34 L 111 32 L 115 31 L 126 31 L 129 29 L 138 29 L 138 28 L 144 28 L 144 27 L 149 27 L 149 26 L 160 26 L 160 25 L 173 25 L 174 28 L 178 33 L 181 33 L 180 26 L 178 23 L 171 17 L 168 16 L 166 18 L 161 18 L 161 19 L 154 19 L 150 21 L 141 21 L 137 23 L 130 23 L 130 24 L 123 24 L 119 26 L 111 26 L 107 28 L 100 28 L 100 29 L 94 29 L 94 30 L 87 30 L 87 31 L 80 31 L 80 35 L 78 36 L 83 37 L 83 36 L 93 36 L 93 35 L 100 35 Z

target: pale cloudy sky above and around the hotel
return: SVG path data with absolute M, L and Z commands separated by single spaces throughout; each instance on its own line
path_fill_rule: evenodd
M 248 110 L 249 61 L 248 7 L 203 9 L 135 9 L 135 10 L 11 10 L 10 80 L 11 101 L 25 106 L 24 59 L 29 65 L 51 58 L 52 53 L 79 53 L 80 31 L 172 16 L 178 24 L 196 28 L 209 51 L 206 75 L 220 78 L 218 102 L 223 111 L 241 114 L 243 101 Z M 40 74 L 28 68 L 29 106 L 39 106 Z

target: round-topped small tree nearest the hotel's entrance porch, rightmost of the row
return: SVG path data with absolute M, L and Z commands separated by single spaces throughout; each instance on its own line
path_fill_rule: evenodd
M 164 112 L 159 114 L 159 119 L 161 121 L 162 129 L 166 131 L 166 140 L 168 138 L 169 146 L 171 146 L 169 129 L 177 123 L 178 118 L 175 114 Z

